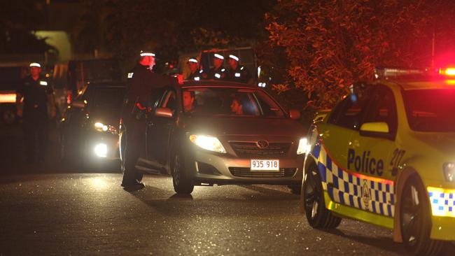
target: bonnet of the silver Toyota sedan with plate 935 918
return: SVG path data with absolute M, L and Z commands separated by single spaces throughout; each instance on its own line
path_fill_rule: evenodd
M 289 118 L 187 117 L 186 130 L 209 135 L 304 136 L 307 129 Z

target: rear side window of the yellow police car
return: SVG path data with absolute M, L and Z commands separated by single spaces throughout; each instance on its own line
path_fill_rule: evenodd
M 358 98 L 356 94 L 350 94 L 335 107 L 329 122 L 340 127 L 358 130 L 365 112 L 366 101 L 366 95 Z

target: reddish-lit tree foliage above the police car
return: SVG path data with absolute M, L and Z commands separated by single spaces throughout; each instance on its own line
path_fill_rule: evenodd
M 434 15 L 443 10 L 442 2 L 441 8 L 434 4 L 279 1 L 266 16 L 269 45 L 286 52 L 291 80 L 276 90 L 295 86 L 307 93 L 311 107 L 330 108 L 354 81 L 372 80 L 376 66 L 430 66 Z

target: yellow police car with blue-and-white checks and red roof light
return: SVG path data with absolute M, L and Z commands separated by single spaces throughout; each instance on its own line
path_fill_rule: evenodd
M 302 210 L 311 227 L 362 220 L 435 255 L 455 240 L 455 69 L 378 71 L 309 129 Z

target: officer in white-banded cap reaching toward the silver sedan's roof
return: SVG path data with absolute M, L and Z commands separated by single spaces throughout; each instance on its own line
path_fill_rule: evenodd
M 158 97 L 158 89 L 176 83 L 175 78 L 153 73 L 155 54 L 141 52 L 139 64 L 128 73 L 128 88 L 122 109 L 122 125 L 125 128 L 125 154 L 123 159 L 122 187 L 141 189 L 142 173 L 136 169 L 136 162 L 141 149 L 145 148 L 146 122 L 141 113 L 151 108 Z

